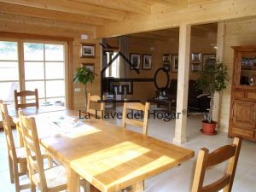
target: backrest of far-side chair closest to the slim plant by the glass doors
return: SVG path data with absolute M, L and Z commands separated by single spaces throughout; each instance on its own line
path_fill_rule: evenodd
M 91 96 L 91 94 L 88 93 L 86 112 L 102 118 L 102 114 L 104 114 L 105 102 L 98 102 L 100 100 L 101 96 Z M 95 105 L 100 105 L 99 110 L 96 108 L 91 108 L 91 102 L 93 102 Z

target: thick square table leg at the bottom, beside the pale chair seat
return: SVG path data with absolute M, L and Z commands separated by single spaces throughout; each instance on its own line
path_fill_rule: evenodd
M 67 192 L 80 192 L 80 176 L 67 167 Z

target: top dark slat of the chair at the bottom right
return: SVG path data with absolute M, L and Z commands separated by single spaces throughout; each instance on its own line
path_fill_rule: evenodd
M 229 160 L 236 153 L 236 145 L 225 145 L 216 149 L 208 155 L 207 167 L 216 166 L 219 163 Z

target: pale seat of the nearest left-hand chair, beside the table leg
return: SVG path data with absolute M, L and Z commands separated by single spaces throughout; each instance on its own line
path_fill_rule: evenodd
M 44 174 L 48 189 L 67 189 L 67 174 L 63 166 L 46 169 L 44 170 Z M 42 186 L 38 173 L 32 176 L 32 180 L 37 186 Z

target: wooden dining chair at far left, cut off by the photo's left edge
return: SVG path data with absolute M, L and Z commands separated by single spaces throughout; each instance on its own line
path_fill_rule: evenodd
M 30 183 L 20 184 L 20 176 L 26 175 L 26 171 L 19 170 L 20 164 L 26 163 L 26 150 L 25 148 L 15 148 L 15 140 L 11 130 L 11 120 L 9 117 L 7 105 L 3 104 L 0 100 L 0 109 L 3 118 L 3 130 L 6 138 L 9 160 L 9 176 L 11 183 L 15 183 L 15 190 L 19 192 L 22 189 L 28 189 Z

